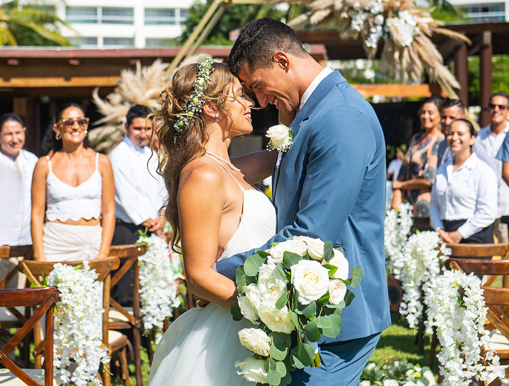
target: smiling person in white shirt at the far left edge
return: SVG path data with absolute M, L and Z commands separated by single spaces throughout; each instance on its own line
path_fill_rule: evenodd
M 0 245 L 30 245 L 32 174 L 37 156 L 23 150 L 25 127 L 16 114 L 0 117 Z M 0 261 L 0 278 L 14 262 Z M 16 287 L 16 283 L 9 283 Z

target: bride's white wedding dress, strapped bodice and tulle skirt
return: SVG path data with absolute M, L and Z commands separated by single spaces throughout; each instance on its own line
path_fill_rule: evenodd
M 268 197 L 237 185 L 243 191 L 242 217 L 218 260 L 260 247 L 275 234 L 276 213 Z M 157 345 L 149 386 L 252 386 L 237 375 L 234 366 L 235 361 L 252 355 L 241 346 L 237 334 L 248 327 L 254 325 L 245 319 L 234 321 L 229 309 L 212 303 L 186 311 Z

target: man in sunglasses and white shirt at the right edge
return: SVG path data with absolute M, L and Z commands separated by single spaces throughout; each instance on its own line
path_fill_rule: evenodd
M 502 176 L 502 161 L 497 159 L 496 156 L 509 131 L 509 125 L 507 125 L 508 106 L 509 97 L 506 94 L 495 93 L 491 95 L 490 103 L 488 104 L 491 122 L 488 126 L 479 130 L 475 140 L 483 144 L 492 160 L 493 166 L 496 168 L 495 171 L 499 179 Z M 500 222 L 500 217 L 505 215 L 509 215 L 509 186 L 501 183 L 498 186 L 497 219 L 493 224 L 498 242 L 509 242 L 507 224 Z

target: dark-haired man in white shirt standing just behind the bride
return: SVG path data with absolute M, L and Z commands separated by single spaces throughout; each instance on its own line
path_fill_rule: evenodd
M 151 113 L 147 106 L 134 105 L 126 117 L 126 136 L 109 154 L 115 177 L 117 223 L 112 245 L 133 244 L 139 231 L 162 234 L 159 211 L 163 205 L 164 183 L 157 174 L 157 154 L 149 148 L 152 135 Z M 130 306 L 132 277 L 124 275 L 112 291 L 112 297 Z

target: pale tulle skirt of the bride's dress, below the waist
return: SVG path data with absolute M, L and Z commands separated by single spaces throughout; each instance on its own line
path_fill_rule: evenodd
M 235 361 L 252 355 L 239 341 L 248 320 L 210 303 L 180 315 L 157 345 L 149 386 L 252 386 L 237 374 Z

